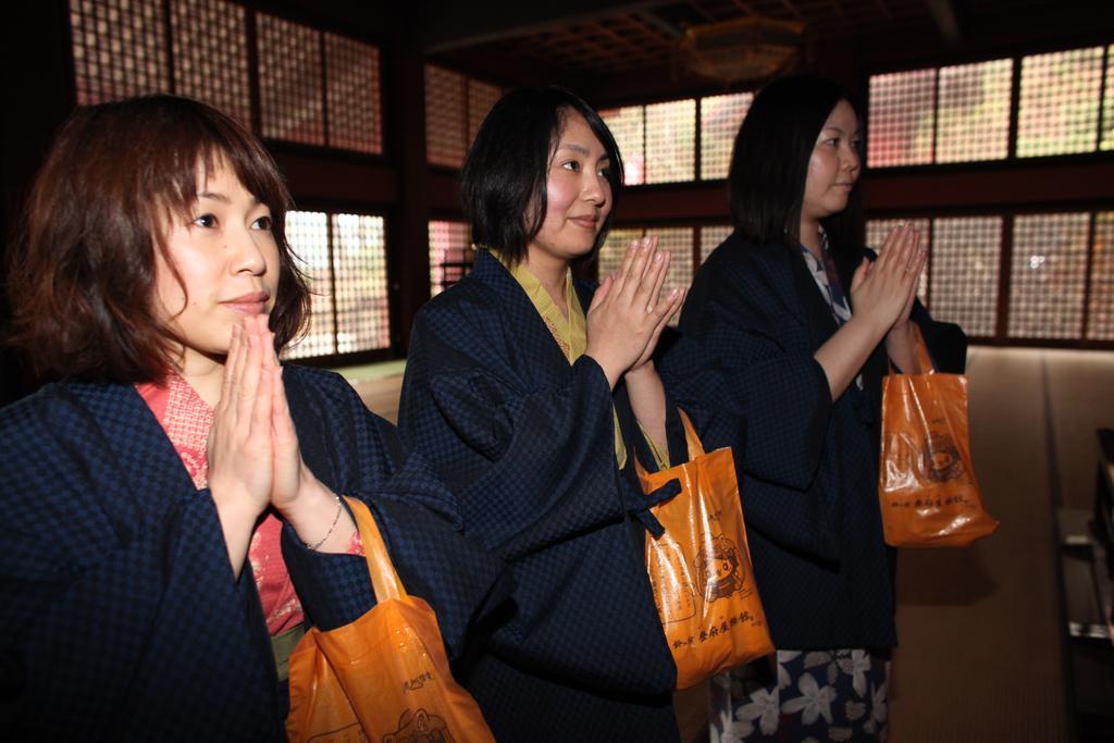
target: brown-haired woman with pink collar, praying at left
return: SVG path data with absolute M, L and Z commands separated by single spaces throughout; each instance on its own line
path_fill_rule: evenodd
M 282 740 L 305 622 L 374 603 L 340 495 L 371 506 L 450 652 L 500 595 L 498 563 L 413 505 L 452 516 L 393 428 L 278 362 L 309 309 L 289 206 L 262 145 L 193 100 L 59 134 L 10 254 L 13 339 L 62 381 L 0 411 L 6 730 Z

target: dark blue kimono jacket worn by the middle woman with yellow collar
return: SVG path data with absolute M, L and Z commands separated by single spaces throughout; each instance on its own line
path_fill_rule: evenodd
M 592 289 L 576 289 L 587 307 Z M 616 465 L 613 399 L 637 433 L 622 387 L 613 398 L 588 356 L 570 365 L 486 251 L 414 319 L 399 428 L 449 483 L 465 535 L 502 555 L 517 584 L 461 676 L 499 741 L 678 737 L 646 531 L 629 515 L 646 501 Z M 627 450 L 629 470 L 645 442 Z

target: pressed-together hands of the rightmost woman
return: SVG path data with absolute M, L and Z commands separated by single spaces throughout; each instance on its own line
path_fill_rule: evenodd
M 927 254 L 912 225 L 895 227 L 872 264 L 863 258 L 851 280 L 854 316 L 867 320 L 879 340 L 898 320 L 908 316 L 917 294 Z

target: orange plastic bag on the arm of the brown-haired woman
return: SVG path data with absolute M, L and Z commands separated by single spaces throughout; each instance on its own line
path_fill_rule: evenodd
M 368 507 L 345 500 L 378 603 L 352 624 L 310 629 L 294 648 L 291 742 L 494 742 L 476 701 L 452 678 L 433 609 L 402 587 Z

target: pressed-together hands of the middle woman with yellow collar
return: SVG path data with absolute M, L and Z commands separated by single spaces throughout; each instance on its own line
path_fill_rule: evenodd
M 644 237 L 631 244 L 619 270 L 596 290 L 588 307 L 585 355 L 603 368 L 613 389 L 653 351 L 658 329 L 680 306 L 680 290 L 661 296 L 668 265 L 670 253 L 657 252 L 657 237 Z

